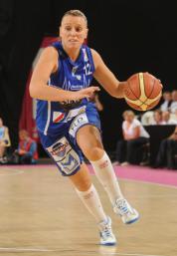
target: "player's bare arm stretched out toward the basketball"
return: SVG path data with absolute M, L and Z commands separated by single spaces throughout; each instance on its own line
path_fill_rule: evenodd
M 92 59 L 94 63 L 95 80 L 104 88 L 104 90 L 115 98 L 124 98 L 124 90 L 126 89 L 126 82 L 119 82 L 113 73 L 103 63 L 100 55 L 91 49 Z

